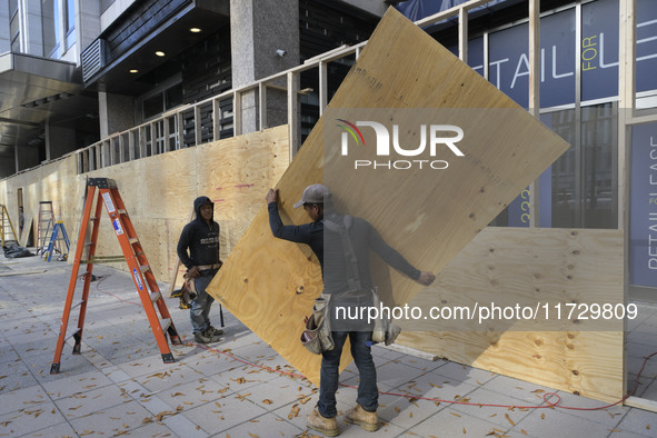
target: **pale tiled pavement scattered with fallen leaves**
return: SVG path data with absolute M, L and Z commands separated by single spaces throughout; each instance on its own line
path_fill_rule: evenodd
M 33 275 L 3 276 L 12 271 Z M 128 273 L 97 266 L 81 355 L 64 346 L 61 372 L 49 374 L 70 267 L 38 257 L 0 260 L 0 436 L 298 437 L 317 401 L 317 388 L 225 311 L 226 335 L 211 346 L 190 340 L 189 312 L 168 300 L 178 331 L 177 361 L 163 364 Z M 166 285 L 162 285 L 166 290 Z M 630 326 L 628 367 L 657 349 L 657 308 L 641 305 Z M 216 305 L 211 317 L 219 326 Z M 381 347 L 372 349 L 381 395 L 377 437 L 654 437 L 657 414 L 615 406 L 601 410 L 519 409 L 451 405 L 545 405 L 550 388 L 445 360 L 429 361 Z M 257 364 L 260 367 L 255 367 Z M 649 362 L 640 394 L 657 399 Z M 267 367 L 269 369 L 263 369 Z M 282 372 L 275 372 L 275 371 Z M 634 380 L 635 376 L 628 376 Z M 351 365 L 341 376 L 358 384 Z M 564 406 L 601 404 L 558 391 Z M 400 395 L 408 395 L 402 397 Z M 409 398 L 411 397 L 411 398 Z M 372 437 L 348 425 L 344 412 L 356 389 L 340 387 L 338 424 L 344 437 Z M 430 399 L 430 400 L 426 400 Z M 445 400 L 442 402 L 436 399 Z

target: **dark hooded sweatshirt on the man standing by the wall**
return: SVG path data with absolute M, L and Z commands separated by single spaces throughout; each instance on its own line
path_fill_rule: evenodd
M 210 198 L 201 196 L 193 201 L 196 219 L 185 226 L 178 240 L 180 262 L 191 269 L 195 266 L 216 265 L 219 262 L 219 223 L 215 216 L 208 225 L 201 217 L 201 206 L 212 203 Z M 189 248 L 189 255 L 187 249 Z

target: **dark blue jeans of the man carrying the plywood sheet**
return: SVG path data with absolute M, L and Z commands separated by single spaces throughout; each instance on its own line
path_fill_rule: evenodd
M 336 409 L 336 391 L 340 356 L 342 347 L 349 336 L 351 341 L 351 356 L 358 368 L 360 382 L 358 384 L 358 398 L 356 401 L 365 410 L 374 412 L 379 407 L 379 389 L 377 387 L 377 369 L 371 357 L 371 348 L 365 342 L 371 339 L 371 331 L 332 331 L 335 347 L 330 351 L 321 354 L 321 374 L 319 379 L 319 401 L 317 409 L 325 418 L 338 415 Z

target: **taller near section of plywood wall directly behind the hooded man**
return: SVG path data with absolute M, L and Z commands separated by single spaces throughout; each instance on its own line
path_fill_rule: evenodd
M 230 242 L 239 240 L 250 222 L 251 206 L 259 202 L 262 188 L 282 175 L 289 162 L 287 157 L 287 130 L 282 126 L 116 165 L 88 176 L 110 176 L 117 182 L 156 278 L 169 281 L 178 257 L 178 238 L 188 222 L 193 200 L 205 195 L 215 201 L 215 218 L 221 226 L 221 252 L 226 258 Z M 233 188 L 240 185 L 236 181 L 242 175 L 257 177 L 250 185 Z M 221 187 L 227 190 L 217 190 Z M 104 211 L 103 216 L 107 216 Z M 104 219 L 101 219 L 97 255 L 120 255 L 111 223 Z

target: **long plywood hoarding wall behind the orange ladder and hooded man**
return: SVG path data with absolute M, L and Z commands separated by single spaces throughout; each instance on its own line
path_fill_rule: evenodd
M 289 165 L 287 129 L 279 126 L 83 175 L 77 173 L 77 158 L 70 156 L 0 181 L 0 199 L 18 211 L 16 192 L 22 188 L 26 217 L 37 217 L 39 201 L 51 200 L 74 248 L 87 178 L 111 178 L 118 185 L 156 278 L 169 281 L 178 238 L 188 222 L 193 199 L 207 195 L 216 201 L 221 252 L 226 258 L 250 223 L 261 191 L 275 185 Z M 103 210 L 97 256 L 119 255 L 119 243 Z M 127 267 L 125 262 L 110 265 Z

